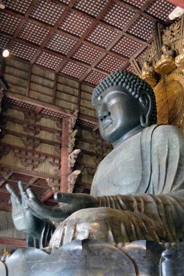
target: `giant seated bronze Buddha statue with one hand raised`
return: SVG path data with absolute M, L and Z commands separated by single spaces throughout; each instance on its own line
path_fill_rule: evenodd
M 117 70 L 103 79 L 93 92 L 92 103 L 99 118 L 101 137 L 114 149 L 99 164 L 90 195 L 56 193 L 54 199 L 60 205 L 51 208 L 42 204 L 31 189 L 24 191 L 21 183 L 21 197 L 12 187 L 7 187 L 11 193 L 14 225 L 43 248 L 43 251 L 34 248 L 37 252 L 28 254 L 29 266 L 32 262 L 32 266 L 37 267 L 36 272 L 31 272 L 32 267 L 27 270 L 19 268 L 19 275 L 159 275 L 157 270 L 153 271 L 157 268 L 139 274 L 134 268 L 136 261 L 133 264 L 130 260 L 132 255 L 126 259 L 129 254 L 127 243 L 130 244 L 129 250 L 131 246 L 134 250 L 139 248 L 139 242 L 134 244 L 136 241 L 152 241 L 153 248 L 158 247 L 158 250 L 161 250 L 159 242 L 183 244 L 183 134 L 174 126 L 156 125 L 154 92 L 145 81 L 130 72 Z M 51 221 L 60 224 L 55 229 Z M 74 257 L 74 252 L 84 244 L 88 248 L 85 248 L 85 262 L 86 258 L 98 257 L 95 264 L 93 259 L 88 268 L 80 270 L 80 274 L 77 269 L 79 266 L 82 269 L 84 263 L 79 255 L 78 259 Z M 66 272 L 69 270 L 63 270 L 63 263 L 59 268 L 58 264 L 52 268 L 48 257 L 48 252 L 52 252 L 49 256 L 52 259 L 55 254 L 56 260 L 60 252 L 65 259 L 68 250 L 71 262 L 68 267 L 75 264 L 73 270 L 68 268 L 71 274 Z M 47 259 L 44 264 L 50 264 L 47 272 L 41 270 L 35 257 L 41 252 L 47 254 L 46 257 L 41 255 Z M 20 259 L 26 255 L 16 254 L 6 262 L 10 271 L 8 276 L 15 275 L 11 270 L 11 262 L 14 262 L 11 258 Z M 99 256 L 106 257 L 100 262 Z M 126 262 L 129 265 L 126 266 Z M 143 260 L 140 262 L 143 265 Z M 159 267 L 158 262 L 156 266 Z M 13 264 L 16 266 L 17 263 Z M 116 272 L 115 266 L 119 267 Z M 130 270 L 127 267 L 131 267 Z

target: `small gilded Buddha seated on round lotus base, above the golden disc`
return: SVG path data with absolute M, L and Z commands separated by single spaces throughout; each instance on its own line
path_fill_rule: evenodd
M 176 68 L 174 50 L 169 50 L 167 45 L 163 45 L 161 50 L 163 55 L 161 55 L 161 59 L 156 62 L 154 70 L 159 74 L 168 74 Z

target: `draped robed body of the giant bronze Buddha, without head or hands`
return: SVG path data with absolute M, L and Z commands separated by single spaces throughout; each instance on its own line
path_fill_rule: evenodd
M 184 138 L 174 126 L 150 126 L 101 161 L 91 195 L 99 208 L 79 210 L 55 230 L 51 247 L 72 239 L 104 242 L 184 237 Z

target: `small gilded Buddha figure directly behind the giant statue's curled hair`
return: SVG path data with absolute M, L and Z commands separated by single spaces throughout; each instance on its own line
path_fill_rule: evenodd
M 149 61 L 143 61 L 143 69 L 141 78 L 146 81 L 152 88 L 156 85 L 156 78 L 154 76 L 154 68 L 150 66 Z

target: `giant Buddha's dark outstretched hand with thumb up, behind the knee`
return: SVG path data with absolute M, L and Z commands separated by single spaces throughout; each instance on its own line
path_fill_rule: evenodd
M 28 206 L 32 213 L 50 221 L 63 221 L 77 210 L 99 207 L 99 199 L 88 194 L 55 193 L 54 199 L 63 204 L 59 207 L 50 207 L 41 203 L 30 188 L 27 193 L 29 196 Z

